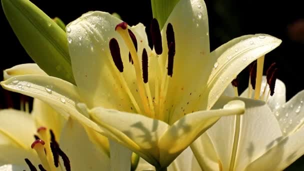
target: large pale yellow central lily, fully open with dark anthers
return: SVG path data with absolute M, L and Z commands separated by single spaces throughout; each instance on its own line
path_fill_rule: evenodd
M 281 42 L 245 35 L 210 52 L 203 0 L 180 0 L 164 25 L 160 31 L 152 20 L 151 50 L 142 24 L 85 13 L 66 27 L 76 86 L 45 75 L 1 85 L 61 108 L 163 169 L 220 116 L 243 112 L 238 100 L 209 109 L 246 65 Z

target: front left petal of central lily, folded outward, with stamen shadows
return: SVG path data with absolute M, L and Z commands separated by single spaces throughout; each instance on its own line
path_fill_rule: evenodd
M 135 113 L 102 107 L 90 111 L 92 120 L 107 130 L 106 136 L 125 145 L 153 165 L 159 162 L 158 140 L 168 125 Z

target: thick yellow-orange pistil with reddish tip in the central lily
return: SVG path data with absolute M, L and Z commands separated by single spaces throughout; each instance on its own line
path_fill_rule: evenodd
M 145 96 L 143 80 L 142 80 L 142 77 L 141 77 L 141 69 L 140 69 L 140 66 L 139 66 L 138 55 L 137 55 L 136 49 L 134 47 L 134 44 L 133 44 L 133 42 L 130 38 L 130 35 L 129 35 L 127 29 L 123 29 L 123 27 L 117 25 L 115 30 L 120 34 L 120 36 L 124 40 L 125 44 L 127 45 L 128 49 L 131 53 L 131 56 L 132 56 L 132 59 L 133 59 L 133 62 L 134 62 L 134 68 L 135 68 L 135 74 L 136 74 L 136 81 L 137 81 L 137 85 L 138 85 L 139 96 L 142 100 L 142 104 L 143 104 L 143 108 L 144 108 L 145 113 L 147 115 L 151 116 L 152 113 L 149 109 L 149 106 L 148 106 L 149 103 L 148 103 L 148 100 L 146 99 L 146 96 Z

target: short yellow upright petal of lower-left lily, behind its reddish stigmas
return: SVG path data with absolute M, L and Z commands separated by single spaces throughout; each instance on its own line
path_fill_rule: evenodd
M 35 98 L 33 100 L 31 116 L 36 123 L 36 127 L 43 126 L 52 129 L 54 134 L 59 137 L 65 118 L 57 113 L 50 105 Z

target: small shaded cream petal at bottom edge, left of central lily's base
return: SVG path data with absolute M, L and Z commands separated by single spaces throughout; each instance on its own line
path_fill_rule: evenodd
M 129 171 L 132 151 L 109 139 L 111 171 Z

